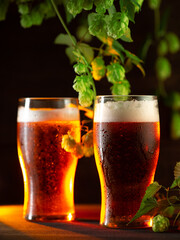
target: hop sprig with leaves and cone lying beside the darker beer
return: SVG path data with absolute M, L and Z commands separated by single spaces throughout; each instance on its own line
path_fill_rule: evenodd
M 179 166 L 178 162 L 174 171 L 180 170 Z M 165 192 L 165 195 L 163 191 Z M 170 226 L 169 218 L 173 220 L 173 226 L 175 226 L 175 224 L 179 224 L 177 221 L 180 216 L 179 193 L 180 176 L 173 181 L 170 188 L 165 188 L 157 182 L 150 184 L 142 199 L 139 210 L 131 219 L 129 224 L 146 214 L 153 216 L 152 230 L 154 232 L 167 231 Z

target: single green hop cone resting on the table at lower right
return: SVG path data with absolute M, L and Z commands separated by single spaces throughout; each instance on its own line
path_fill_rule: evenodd
M 169 219 L 159 214 L 153 218 L 152 230 L 154 232 L 165 232 L 168 230 L 169 225 Z

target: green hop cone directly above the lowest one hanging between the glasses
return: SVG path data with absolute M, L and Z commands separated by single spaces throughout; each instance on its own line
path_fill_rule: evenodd
M 85 92 L 91 86 L 91 78 L 88 75 L 76 76 L 73 88 L 77 92 Z

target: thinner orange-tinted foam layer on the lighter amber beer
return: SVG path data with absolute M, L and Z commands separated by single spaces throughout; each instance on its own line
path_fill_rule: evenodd
M 17 122 L 42 122 L 42 121 L 75 121 L 79 120 L 78 108 L 26 108 L 19 107 Z

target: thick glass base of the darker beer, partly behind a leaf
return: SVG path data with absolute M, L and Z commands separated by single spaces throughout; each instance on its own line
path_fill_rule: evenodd
M 127 219 L 126 217 L 113 217 L 113 218 L 110 218 L 109 220 L 104 221 L 103 223 L 101 223 L 101 225 L 108 228 L 122 228 L 122 229 L 151 227 L 150 216 L 142 216 L 129 224 L 130 220 L 131 218 Z

